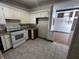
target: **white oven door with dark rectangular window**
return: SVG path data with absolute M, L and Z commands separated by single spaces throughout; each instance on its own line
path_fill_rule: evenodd
M 22 40 L 25 40 L 24 31 L 16 31 L 11 33 L 12 43 L 16 44 Z

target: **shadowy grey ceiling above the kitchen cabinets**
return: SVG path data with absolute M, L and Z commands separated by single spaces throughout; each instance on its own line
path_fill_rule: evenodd
M 52 3 L 53 0 L 0 0 L 3 3 L 21 6 L 27 9 L 33 9 L 42 5 Z

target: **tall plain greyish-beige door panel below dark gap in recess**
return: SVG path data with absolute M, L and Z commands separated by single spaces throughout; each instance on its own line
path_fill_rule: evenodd
M 48 39 L 48 19 L 38 20 L 38 36 Z

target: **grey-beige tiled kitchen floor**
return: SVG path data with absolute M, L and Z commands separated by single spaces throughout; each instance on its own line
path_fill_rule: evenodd
M 68 47 L 43 39 L 28 40 L 4 53 L 5 59 L 66 59 Z

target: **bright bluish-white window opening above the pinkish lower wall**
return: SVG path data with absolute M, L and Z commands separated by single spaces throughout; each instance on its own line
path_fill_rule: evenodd
M 71 12 L 72 11 L 57 12 L 53 31 L 70 33 L 74 20 L 74 12 L 72 13 L 72 16 L 70 16 Z

